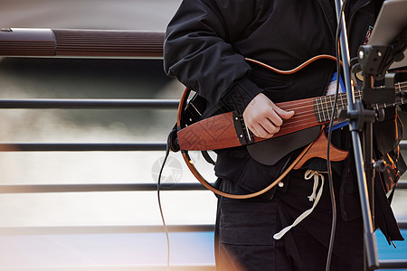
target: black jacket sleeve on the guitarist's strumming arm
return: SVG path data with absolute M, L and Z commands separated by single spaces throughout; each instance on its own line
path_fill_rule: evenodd
M 255 1 L 185 0 L 166 29 L 164 68 L 216 107 L 242 112 L 262 90 L 233 49 L 253 20 Z

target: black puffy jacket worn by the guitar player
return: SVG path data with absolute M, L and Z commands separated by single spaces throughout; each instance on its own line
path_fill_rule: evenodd
M 347 32 L 351 56 L 363 44 L 374 25 L 383 1 L 352 0 L 346 10 Z M 336 14 L 334 1 L 328 0 L 185 0 L 169 23 L 164 46 L 166 73 L 195 90 L 208 102 L 204 116 L 219 111 L 244 108 L 260 92 L 272 101 L 280 102 L 325 94 L 327 83 L 335 70 L 333 61 L 317 64 L 293 75 L 281 76 L 250 65 L 245 58 L 264 62 L 280 70 L 290 70 L 319 54 L 335 55 Z M 380 186 L 392 189 L 405 170 L 396 148 L 401 136 L 393 110 L 381 126 L 376 126 L 376 155 L 390 163 Z M 399 136 L 383 133 L 399 131 Z M 349 148 L 347 139 L 342 145 Z M 355 170 L 352 155 L 346 161 L 343 195 L 357 201 Z M 396 161 L 399 161 L 397 164 Z M 284 166 L 281 161 L 265 166 L 252 160 L 245 147 L 219 152 L 216 174 L 222 178 L 239 180 L 248 191 L 258 191 L 275 179 Z M 251 167 L 256 182 L 244 182 L 243 169 Z M 397 173 L 400 171 L 401 173 Z M 347 181 L 346 181 L 347 180 Z M 380 180 L 379 180 L 380 181 Z M 352 183 L 352 184 L 349 184 Z M 381 204 L 385 205 L 384 220 L 393 226 L 389 239 L 402 238 L 394 223 L 393 212 L 382 190 Z M 345 204 L 345 203 L 344 203 Z M 345 219 L 360 215 L 355 208 L 345 208 Z M 347 212 L 346 212 L 347 211 Z

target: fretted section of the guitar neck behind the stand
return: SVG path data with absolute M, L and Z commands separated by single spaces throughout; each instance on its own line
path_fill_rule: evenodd
M 402 92 L 407 91 L 407 81 L 406 82 L 399 82 L 394 85 L 395 92 Z M 361 98 L 362 92 L 360 90 L 355 91 L 355 98 Z M 334 108 L 334 101 L 335 95 L 328 95 L 323 97 L 318 97 L 314 99 L 314 112 L 315 116 L 317 117 L 317 121 L 319 123 L 327 122 L 331 119 L 332 110 Z M 401 98 L 396 96 L 394 103 L 392 104 L 375 104 L 374 108 L 385 108 L 385 107 L 395 107 L 398 105 L 402 105 L 406 103 L 407 100 L 405 98 Z M 347 97 L 346 93 L 340 93 L 337 98 L 336 103 L 336 114 L 335 119 L 338 116 L 338 111 L 340 109 L 345 109 L 347 107 Z

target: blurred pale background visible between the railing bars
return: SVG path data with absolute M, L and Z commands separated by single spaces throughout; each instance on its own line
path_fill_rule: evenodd
M 0 1 L 0 28 L 165 31 L 180 3 Z M 0 98 L 179 99 L 183 90 L 175 79 L 166 76 L 162 60 L 0 58 Z M 174 126 L 175 113 L 144 109 L 0 110 L 0 141 L 164 143 Z M 164 152 L 0 153 L 0 184 L 156 183 L 157 164 L 163 156 Z M 199 162 L 200 157 L 195 158 Z M 179 154 L 171 154 L 170 159 L 182 172 L 177 182 L 196 182 Z M 202 166 L 204 175 L 214 181 L 212 167 Z M 170 170 L 165 174 L 171 174 Z M 406 196 L 405 191 L 395 193 L 393 208 L 399 220 L 407 219 Z M 214 223 L 215 197 L 211 192 L 163 192 L 162 201 L 168 224 Z M 0 193 L 0 218 L 0 228 L 161 225 L 156 192 Z M 75 240 L 72 236 L 42 238 L 44 243 L 38 238 L 0 237 L 0 269 L 166 262 L 166 239 L 162 234 L 147 239 L 127 234 L 80 236 L 76 243 L 70 243 Z M 185 258 L 204 251 L 191 261 L 212 265 L 213 237 L 200 238 L 199 243 L 192 243 L 178 235 L 173 262 L 185 264 Z M 99 256 L 106 253 L 106 257 L 97 259 L 86 254 L 80 250 L 84 244 Z M 100 250 L 109 244 L 116 244 L 117 255 Z M 42 248 L 43 253 L 37 248 Z M 61 249 L 65 256 L 49 257 L 54 248 Z M 140 256 L 140 248 L 151 253 Z M 199 252 L 194 254 L 194 249 Z M 189 256 L 182 255 L 188 250 Z

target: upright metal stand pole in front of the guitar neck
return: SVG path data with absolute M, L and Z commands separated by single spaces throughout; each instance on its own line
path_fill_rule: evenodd
M 362 100 L 355 99 L 350 76 L 350 57 L 346 34 L 345 14 L 342 13 L 341 0 L 336 0 L 336 19 L 338 23 L 341 23 L 342 29 L 340 32 L 339 42 L 344 67 L 343 70 L 347 97 L 347 109 L 345 112 L 340 112 L 340 115 L 348 118 L 349 120 L 349 131 L 352 135 L 357 182 L 359 187 L 362 216 L 364 220 L 364 268 L 372 270 L 377 269 L 379 266 L 371 211 L 374 210 L 374 163 L 372 162 L 372 139 L 375 112 L 371 110 L 370 107 L 365 109 Z M 364 155 L 359 136 L 360 132 L 364 132 Z M 371 201 L 369 201 L 369 194 L 371 195 Z M 369 202 L 371 203 L 369 204 Z

